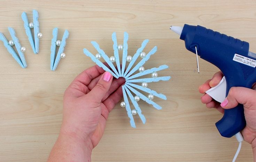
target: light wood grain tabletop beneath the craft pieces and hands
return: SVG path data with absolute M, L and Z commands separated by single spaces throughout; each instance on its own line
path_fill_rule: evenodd
M 21 13 L 32 21 L 39 12 L 39 54 L 32 52 Z M 46 161 L 62 121 L 65 88 L 73 78 L 94 63 L 83 48 L 96 53 L 90 41 L 113 55 L 111 34 L 129 33 L 129 54 L 144 39 L 145 51 L 158 47 L 145 68 L 166 64 L 158 73 L 170 75 L 169 82 L 149 84 L 166 94 L 167 101 L 156 110 L 142 101 L 147 122 L 135 117 L 130 127 L 125 109 L 116 105 L 110 113 L 103 138 L 93 150 L 93 161 L 232 161 L 238 143 L 221 137 L 215 127 L 222 114 L 205 108 L 197 88 L 218 71 L 204 60 L 197 74 L 195 55 L 185 49 L 170 25 L 202 25 L 250 42 L 256 52 L 256 1 L 252 0 L 108 0 L 108 1 L 0 1 L 0 31 L 10 39 L 7 27 L 14 27 L 25 52 L 28 68 L 22 69 L 0 42 L 0 161 Z M 65 53 L 56 71 L 50 70 L 52 29 L 59 27 L 59 39 L 70 32 Z M 238 161 L 253 161 L 251 146 L 243 142 Z

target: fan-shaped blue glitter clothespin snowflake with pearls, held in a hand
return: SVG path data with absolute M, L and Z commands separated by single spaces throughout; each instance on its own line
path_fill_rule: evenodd
M 156 73 L 157 71 L 167 69 L 168 68 L 167 65 L 161 65 L 158 68 L 151 68 L 151 69 L 147 69 L 147 70 L 145 70 L 145 68 L 143 67 L 145 62 L 147 60 L 149 60 L 150 56 L 157 51 L 157 47 L 155 46 L 152 50 L 150 50 L 148 52 L 148 54 L 143 52 L 143 49 L 145 48 L 145 46 L 147 45 L 149 40 L 144 40 L 142 42 L 141 47 L 137 50 L 137 52 L 134 54 L 133 57 L 127 56 L 128 33 L 124 32 L 123 45 L 122 44 L 117 45 L 116 33 L 112 34 L 112 40 L 114 42 L 114 44 L 113 44 L 114 56 L 108 57 L 106 55 L 106 53 L 102 49 L 100 49 L 99 44 L 95 41 L 92 41 L 91 43 L 94 46 L 94 48 L 98 51 L 98 53 L 94 56 L 87 49 L 84 49 L 84 54 L 86 56 L 90 57 L 92 59 L 92 61 L 95 62 L 99 67 L 101 67 L 105 71 L 108 71 L 109 73 L 111 73 L 115 78 L 119 78 L 119 77 L 125 78 L 126 82 L 122 86 L 124 102 L 121 102 L 121 106 L 125 107 L 125 109 L 127 111 L 127 115 L 130 118 L 130 124 L 133 128 L 135 128 L 136 126 L 135 126 L 135 122 L 133 119 L 133 115 L 138 114 L 142 123 L 145 124 L 145 122 L 146 122 L 146 118 L 141 113 L 141 109 L 139 107 L 139 104 L 137 103 L 140 99 L 147 102 L 148 104 L 153 105 L 157 110 L 162 109 L 162 107 L 160 105 L 158 105 L 157 103 L 155 103 L 154 101 L 152 101 L 154 99 L 154 96 L 159 97 L 160 99 L 166 100 L 165 95 L 159 94 L 156 91 L 153 91 L 153 90 L 147 88 L 148 83 L 158 82 L 160 80 L 167 81 L 171 77 L 170 76 L 158 77 L 158 74 Z M 121 51 L 121 50 L 123 50 L 122 68 L 120 66 L 119 54 L 118 54 L 118 51 Z M 111 69 L 109 69 L 107 66 L 105 66 L 100 61 L 101 57 L 108 63 L 108 65 Z M 135 65 L 132 68 L 133 64 L 139 57 L 141 57 L 142 59 L 139 61 L 139 63 L 137 65 Z M 117 69 L 115 68 L 115 66 L 113 64 L 114 62 L 116 62 Z M 125 69 L 126 62 L 129 62 L 129 65 Z M 139 73 L 134 74 L 136 71 L 139 71 Z M 151 74 L 152 77 L 134 79 L 134 78 L 138 78 L 141 76 L 145 76 L 147 74 Z M 141 85 L 134 84 L 134 83 L 141 83 Z M 145 95 L 143 95 L 142 93 L 137 91 L 135 88 L 139 89 L 140 91 L 148 93 L 148 96 L 146 97 Z M 133 94 L 131 92 L 134 93 L 135 96 L 133 96 Z M 129 98 L 135 108 L 133 110 L 131 110 L 127 95 L 129 96 Z

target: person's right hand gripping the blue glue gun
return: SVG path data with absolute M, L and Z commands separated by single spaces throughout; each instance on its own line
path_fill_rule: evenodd
M 199 92 L 204 94 L 201 97 L 201 102 L 206 104 L 207 108 L 216 108 L 221 113 L 224 109 L 231 109 L 239 103 L 243 104 L 245 111 L 246 127 L 241 131 L 246 142 L 251 144 L 253 148 L 254 161 L 256 161 L 256 84 L 252 89 L 244 87 L 232 87 L 226 99 L 219 103 L 212 99 L 212 97 L 205 93 L 210 88 L 215 87 L 222 80 L 223 74 L 221 71 L 214 74 L 212 79 L 207 80 L 199 87 Z

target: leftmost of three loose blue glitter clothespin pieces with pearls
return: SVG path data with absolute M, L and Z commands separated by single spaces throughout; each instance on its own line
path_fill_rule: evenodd
M 26 68 L 27 63 L 26 63 L 25 56 L 24 56 L 24 52 L 26 51 L 26 48 L 21 46 L 18 38 L 16 37 L 14 28 L 8 27 L 8 31 L 11 35 L 12 40 L 8 41 L 5 37 L 5 35 L 3 35 L 3 33 L 0 33 L 0 40 L 3 42 L 3 44 L 5 45 L 5 48 L 11 54 L 11 56 L 13 56 L 13 58 L 20 64 L 20 66 L 22 68 Z M 16 48 L 18 54 L 13 49 L 13 47 L 12 47 L 13 45 L 15 45 L 15 48 Z

